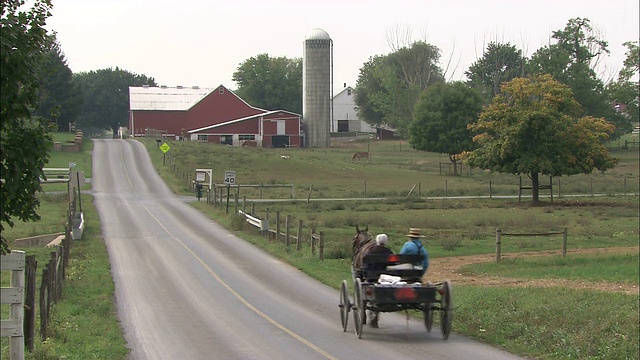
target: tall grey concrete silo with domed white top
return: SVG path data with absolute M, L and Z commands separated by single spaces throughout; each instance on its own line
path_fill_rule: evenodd
M 304 39 L 302 59 L 302 121 L 305 146 L 329 147 L 333 83 L 333 41 L 322 29 Z

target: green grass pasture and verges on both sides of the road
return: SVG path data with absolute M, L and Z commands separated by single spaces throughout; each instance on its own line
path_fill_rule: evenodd
M 368 226 L 373 233 L 389 234 L 394 250 L 400 248 L 408 227 L 421 227 L 428 236 L 426 243 L 434 263 L 448 257 L 493 253 L 496 228 L 510 233 L 567 228 L 569 249 L 638 245 L 639 198 L 637 194 L 629 195 L 637 193 L 639 187 L 637 149 L 613 147 L 612 152 L 620 158 L 620 164 L 604 174 L 554 179 L 553 203 L 548 191 L 543 190 L 542 206 L 531 207 L 526 197 L 522 202 L 517 198 L 498 198 L 518 194 L 517 176 L 467 168 L 463 168 L 462 176 L 452 176 L 448 165 L 444 165 L 448 162 L 446 156 L 416 152 L 400 141 L 340 142 L 331 149 L 322 150 L 242 149 L 169 142 L 171 151 L 166 157 L 157 149 L 155 141 L 144 143 L 158 173 L 178 194 L 192 194 L 191 181 L 196 168 L 212 169 L 216 183 L 222 182 L 224 171 L 234 170 L 239 184 L 293 184 L 293 196 L 291 188 L 268 188 L 264 189 L 263 197 L 293 197 L 294 201 L 262 203 L 248 200 L 244 206 L 245 209 L 255 208 L 255 213 L 261 217 L 268 209 L 271 228 L 275 227 L 275 214 L 279 212 L 282 231 L 286 215 L 290 215 L 294 224 L 302 220 L 303 248 L 300 251 L 285 246 L 282 241 L 259 235 L 242 219 L 228 215 L 224 207 L 214 207 L 205 201 L 191 204 L 239 236 L 334 287 L 338 287 L 342 279 L 350 278 L 350 239 L 356 225 Z M 369 151 L 371 163 L 352 164 L 351 155 L 356 150 Z M 68 155 L 55 154 L 54 157 L 59 164 L 82 163 L 80 159 L 68 160 Z M 90 163 L 90 150 L 83 149 L 82 156 Z M 414 190 L 408 196 L 412 188 Z M 452 198 L 488 196 L 489 189 L 495 198 Z M 597 196 L 614 193 L 627 193 L 627 196 Z M 46 196 L 49 198 L 42 197 L 46 200 L 43 206 L 45 203 L 54 208 L 58 206 L 55 196 Z M 256 189 L 242 188 L 239 198 L 257 199 L 259 196 Z M 434 196 L 443 198 L 429 198 Z M 307 202 L 307 197 L 312 200 L 386 199 Z M 83 201 L 86 204 L 90 200 L 87 197 Z M 68 290 L 54 310 L 56 330 L 46 342 L 37 344 L 36 352 L 29 354 L 28 359 L 126 357 L 115 316 L 113 284 L 110 278 L 104 278 L 108 274 L 108 259 L 99 237 L 97 214 L 92 206 L 85 206 L 85 212 L 93 220 L 85 230 L 85 239 L 77 242 L 77 252 L 72 254 L 76 258 L 72 261 Z M 66 214 L 66 207 L 61 214 Z M 39 225 L 57 232 L 60 231 L 57 229 L 59 222 L 60 214 L 47 211 Z M 38 228 L 29 225 L 32 223 L 19 224 L 5 236 L 37 234 Z M 318 259 L 317 253 L 311 253 L 312 227 L 324 233 L 324 261 Z M 561 235 L 505 237 L 502 252 L 559 250 L 561 242 Z M 589 255 L 569 255 L 566 259 L 519 258 L 499 264 L 471 265 L 464 271 L 505 279 L 564 278 L 587 283 L 608 281 L 638 285 L 638 257 L 628 254 L 598 258 Z M 627 295 L 588 288 L 453 285 L 455 332 L 531 358 L 638 358 L 637 293 Z M 95 314 L 103 317 L 94 317 Z M 84 324 L 89 327 L 85 328 Z M 337 311 L 336 329 L 339 331 Z M 3 358 L 5 344 L 3 340 Z

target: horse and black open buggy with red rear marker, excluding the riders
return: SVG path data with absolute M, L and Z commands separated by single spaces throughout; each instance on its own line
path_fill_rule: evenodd
M 364 247 L 362 242 L 371 241 L 371 236 L 367 235 L 366 230 L 357 231 L 354 238 L 357 252 L 354 253 L 352 267 L 353 301 L 349 298 L 346 280 L 342 280 L 340 287 L 342 330 L 347 330 L 350 311 L 353 311 L 356 335 L 361 338 L 367 323 L 367 312 L 377 323 L 380 312 L 418 310 L 422 312 L 427 332 L 431 331 L 434 314 L 438 312 L 442 337 L 447 339 L 453 318 L 451 283 L 447 280 L 424 284 L 421 279 L 423 271 L 415 265 L 422 261 L 422 254 L 361 253 Z

